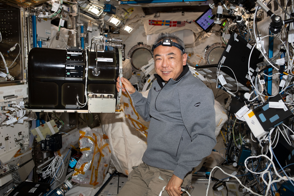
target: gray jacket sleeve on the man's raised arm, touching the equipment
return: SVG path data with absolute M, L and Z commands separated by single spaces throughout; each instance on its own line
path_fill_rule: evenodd
M 136 111 L 141 115 L 143 120 L 146 122 L 150 121 L 151 117 L 149 114 L 149 105 L 151 100 L 151 91 L 148 92 L 147 98 L 143 97 L 143 95 L 137 90 L 135 93 L 131 94 L 131 97 L 133 99 Z

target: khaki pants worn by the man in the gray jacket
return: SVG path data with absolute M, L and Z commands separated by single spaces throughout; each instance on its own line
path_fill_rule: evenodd
M 117 196 L 158 196 L 173 175 L 172 170 L 164 170 L 141 163 L 128 176 L 128 182 Z M 191 185 L 192 172 L 184 178 L 182 187 Z M 162 196 L 168 196 L 166 190 Z

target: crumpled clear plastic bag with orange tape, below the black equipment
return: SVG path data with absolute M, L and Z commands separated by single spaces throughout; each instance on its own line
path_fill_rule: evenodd
M 91 128 L 80 131 L 79 145 L 83 155 L 76 164 L 72 181 L 93 186 L 103 183 L 109 167 L 111 150 L 106 137 Z

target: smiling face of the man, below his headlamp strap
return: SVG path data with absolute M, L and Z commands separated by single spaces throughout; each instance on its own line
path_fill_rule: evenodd
M 175 46 L 158 46 L 153 51 L 155 71 L 167 82 L 170 78 L 176 80 L 186 65 L 187 54 L 181 55 L 180 49 Z

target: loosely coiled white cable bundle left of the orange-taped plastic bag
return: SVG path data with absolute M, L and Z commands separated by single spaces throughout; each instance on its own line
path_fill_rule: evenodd
M 40 173 L 43 173 L 42 177 L 46 178 L 46 177 L 50 176 L 50 177 L 54 178 L 54 180 L 59 181 L 63 172 L 64 172 L 64 162 L 63 162 L 61 156 L 56 156 L 52 160 L 52 162 L 46 167 L 48 167 L 46 171 L 40 172 Z M 59 170 L 61 170 L 61 172 L 58 175 L 57 173 Z

